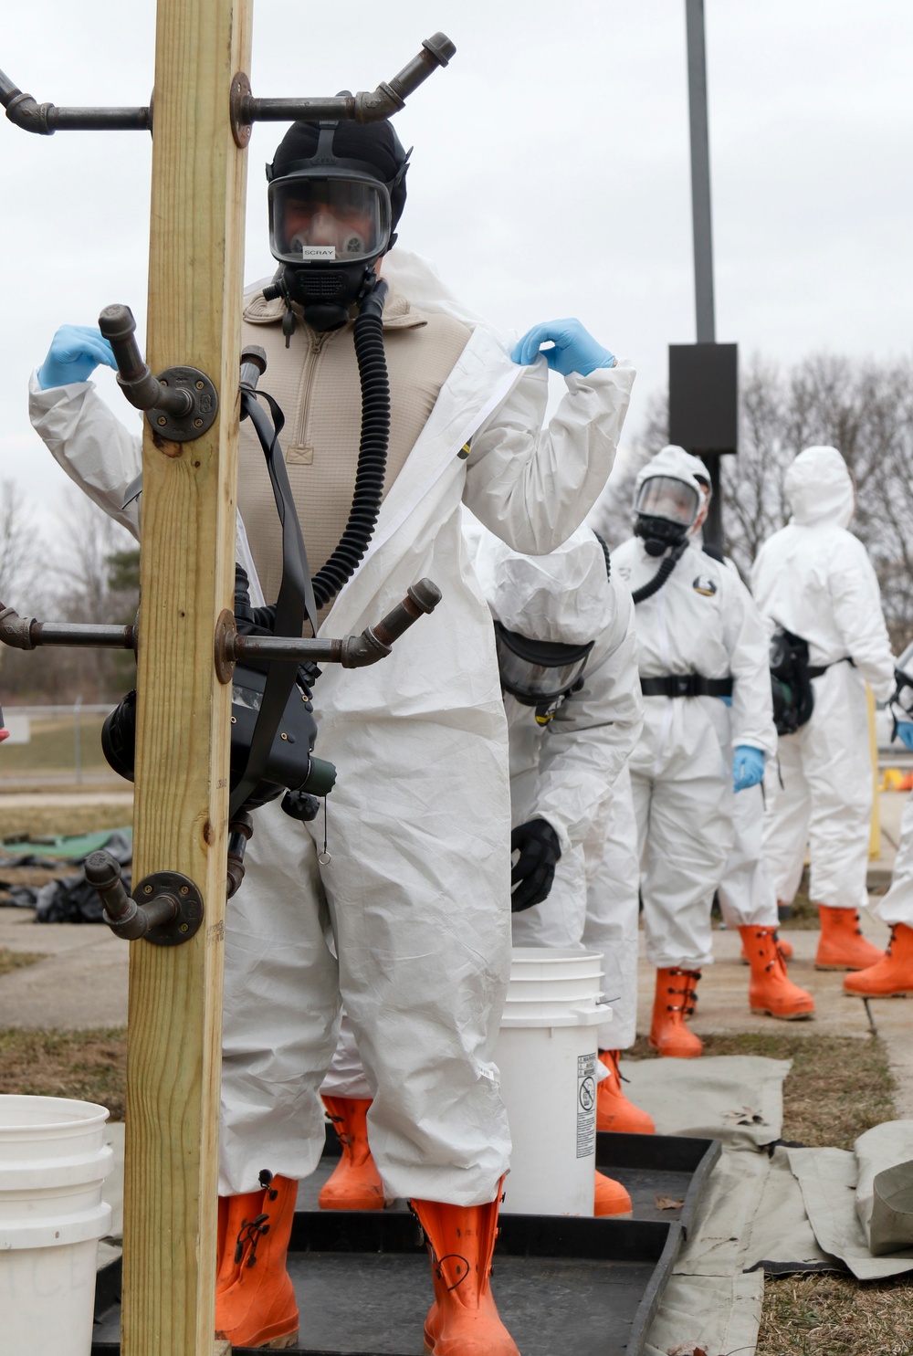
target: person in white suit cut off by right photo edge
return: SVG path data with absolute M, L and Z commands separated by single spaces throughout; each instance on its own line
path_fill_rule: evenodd
M 913 751 L 913 645 L 904 651 L 894 674 L 897 686 L 890 706 L 895 738 Z M 871 914 L 887 923 L 891 940 L 874 965 L 847 975 L 844 989 L 860 998 L 913 994 L 913 796 L 908 796 L 904 805 L 891 888 L 872 904 Z

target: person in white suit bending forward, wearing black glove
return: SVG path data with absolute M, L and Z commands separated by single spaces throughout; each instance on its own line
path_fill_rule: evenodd
M 624 1119 L 624 1128 L 651 1132 L 617 1073 L 615 1003 L 634 990 L 636 1005 L 636 949 L 621 960 L 613 895 L 587 890 L 610 807 L 619 795 L 629 801 L 627 762 L 643 724 L 631 595 L 587 527 L 549 556 L 521 556 L 484 530 L 471 540 L 495 621 L 510 730 L 513 941 L 602 953 L 613 1014 L 598 1031 L 605 1077 L 597 1124 L 619 1130 Z M 634 907 L 636 944 L 636 885 Z M 627 1028 L 627 1010 L 621 1021 Z M 624 1188 L 597 1174 L 596 1214 L 629 1208 Z

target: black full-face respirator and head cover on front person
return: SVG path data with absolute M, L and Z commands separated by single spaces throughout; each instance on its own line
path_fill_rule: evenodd
M 345 325 L 350 308 L 373 290 L 374 264 L 396 240 L 411 155 L 389 123 L 354 133 L 347 123 L 300 123 L 289 136 L 297 141 L 286 137 L 266 167 L 270 251 L 281 267 L 263 292 L 267 300 L 285 298 L 286 343 L 294 332 L 293 305 L 303 308 L 311 330 L 324 334 Z M 361 155 L 346 155 L 349 142 Z M 298 156 L 298 149 L 312 155 Z

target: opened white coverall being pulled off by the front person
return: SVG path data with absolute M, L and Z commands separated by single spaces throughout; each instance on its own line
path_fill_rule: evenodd
M 399 259 L 384 273 L 407 298 L 412 275 L 426 311 L 456 309 L 427 266 Z M 246 330 L 244 342 L 260 332 Z M 510 804 L 491 617 L 463 545 L 461 503 L 518 549 L 553 551 L 605 483 L 632 380 L 627 363 L 568 377 L 541 433 L 545 362 L 516 366 L 475 324 L 389 488 L 320 635 L 360 633 L 422 576 L 444 602 L 383 663 L 330 664 L 319 681 L 317 751 L 338 767 L 331 864 L 317 864 L 322 823 L 301 826 L 278 801 L 254 812 L 225 932 L 220 1195 L 251 1191 L 265 1165 L 292 1178 L 316 1166 L 317 1090 L 342 995 L 388 1195 L 492 1199 L 510 1153 L 491 1059 L 510 968 Z M 92 382 L 42 392 L 33 378 L 31 415 L 64 469 L 125 521 L 138 439 Z

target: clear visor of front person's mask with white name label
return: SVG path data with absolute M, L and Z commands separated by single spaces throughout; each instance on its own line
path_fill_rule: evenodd
M 387 248 L 389 194 L 353 175 L 290 175 L 269 187 L 270 250 L 282 263 L 361 263 Z

